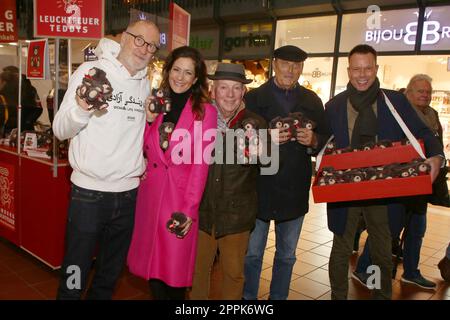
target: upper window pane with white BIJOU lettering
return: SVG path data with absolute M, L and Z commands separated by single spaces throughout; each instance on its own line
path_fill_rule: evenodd
M 346 14 L 342 17 L 340 52 L 365 43 L 377 51 L 414 50 L 418 9 Z M 374 16 L 376 15 L 376 16 Z M 379 18 L 379 19 L 378 19 Z

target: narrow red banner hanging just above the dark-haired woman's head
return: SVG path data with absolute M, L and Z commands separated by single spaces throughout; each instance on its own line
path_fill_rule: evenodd
M 169 51 L 189 45 L 191 15 L 177 4 L 170 3 Z

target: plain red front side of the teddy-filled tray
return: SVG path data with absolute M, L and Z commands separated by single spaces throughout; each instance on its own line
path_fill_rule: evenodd
M 422 175 L 410 178 L 361 181 L 317 186 L 317 177 L 312 187 L 315 203 L 356 201 L 430 194 L 431 177 Z

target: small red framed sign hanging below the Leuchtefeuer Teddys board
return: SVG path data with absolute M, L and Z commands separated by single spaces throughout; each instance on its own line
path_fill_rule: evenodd
M 27 78 L 46 79 L 49 73 L 48 41 L 33 40 L 28 45 Z

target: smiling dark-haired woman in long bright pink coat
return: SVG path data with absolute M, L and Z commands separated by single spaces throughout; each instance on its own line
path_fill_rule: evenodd
M 184 299 L 186 287 L 192 285 L 198 207 L 217 111 L 208 103 L 206 66 L 196 49 L 172 51 L 163 69 L 161 89 L 170 93 L 171 110 L 157 115 L 145 131 L 147 171 L 139 187 L 128 266 L 131 273 L 150 280 L 155 299 L 178 300 Z M 174 125 L 171 134 L 164 129 L 170 127 L 168 123 Z M 167 145 L 164 141 L 168 140 Z M 179 213 L 177 221 L 171 221 L 173 213 Z

